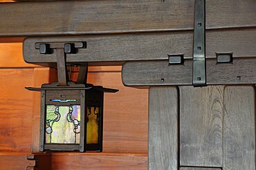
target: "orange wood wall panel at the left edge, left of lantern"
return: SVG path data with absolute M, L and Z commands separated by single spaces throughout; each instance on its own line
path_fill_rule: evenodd
M 0 69 L 0 151 L 30 152 L 33 68 Z M 26 76 L 24 76 L 26 75 Z

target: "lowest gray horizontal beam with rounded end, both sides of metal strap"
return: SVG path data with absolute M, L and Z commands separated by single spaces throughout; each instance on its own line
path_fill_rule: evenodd
M 126 86 L 192 85 L 192 64 L 191 59 L 185 59 L 182 65 L 170 66 L 167 60 L 126 62 L 122 66 L 122 82 Z M 230 64 L 207 59 L 207 84 L 256 84 L 255 66 L 255 57 L 236 58 Z

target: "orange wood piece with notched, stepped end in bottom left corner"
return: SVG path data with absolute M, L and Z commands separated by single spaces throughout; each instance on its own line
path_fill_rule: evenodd
M 26 169 L 35 166 L 35 160 L 27 160 L 29 153 L 0 153 L 0 169 Z

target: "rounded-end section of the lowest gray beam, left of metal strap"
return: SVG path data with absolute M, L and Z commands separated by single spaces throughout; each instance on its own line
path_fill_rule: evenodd
M 167 60 L 126 62 L 122 65 L 125 86 L 192 85 L 192 60 L 170 65 Z

